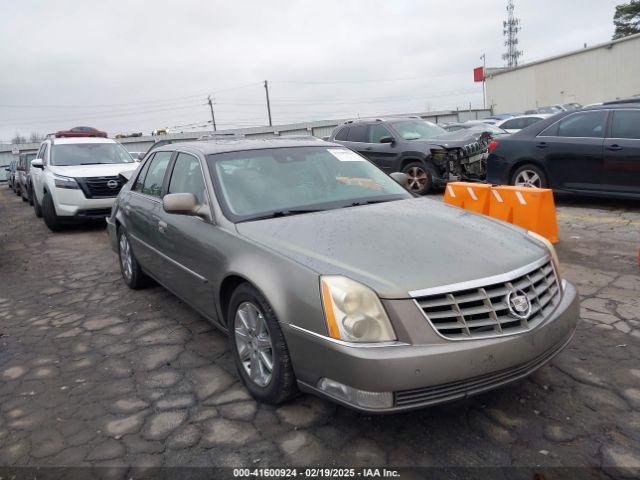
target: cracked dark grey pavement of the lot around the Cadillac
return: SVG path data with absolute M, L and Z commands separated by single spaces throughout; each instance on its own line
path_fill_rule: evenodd
M 498 391 L 376 417 L 256 404 L 224 335 L 161 287 L 125 287 L 102 226 L 52 234 L 2 185 L 0 465 L 640 467 L 640 204 L 558 214 L 572 344 Z

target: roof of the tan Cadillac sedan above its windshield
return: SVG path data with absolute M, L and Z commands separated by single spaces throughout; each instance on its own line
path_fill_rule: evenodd
M 257 140 L 235 139 L 235 140 L 199 140 L 191 142 L 179 142 L 163 145 L 155 150 L 175 150 L 180 148 L 190 148 L 199 151 L 203 155 L 212 155 L 217 153 L 242 152 L 246 150 L 263 150 L 266 148 L 293 148 L 293 147 L 338 147 L 344 146 L 326 142 L 319 138 L 311 137 L 310 140 L 294 139 L 288 140 L 284 138 L 265 138 Z

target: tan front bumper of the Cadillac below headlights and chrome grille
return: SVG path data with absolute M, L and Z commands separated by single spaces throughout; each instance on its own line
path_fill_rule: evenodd
M 391 315 L 397 312 L 411 315 L 410 304 L 403 303 L 395 312 L 387 309 Z M 421 321 L 424 329 L 433 330 L 417 308 L 414 310 L 416 322 Z M 316 385 L 321 378 L 329 378 L 360 390 L 393 392 L 390 408 L 370 410 L 347 405 L 360 411 L 384 413 L 465 398 L 531 374 L 569 343 L 578 315 L 577 291 L 566 283 L 555 311 L 534 329 L 518 335 L 353 346 L 288 325 L 284 325 L 284 330 L 302 390 L 326 397 Z M 344 404 L 339 399 L 331 399 Z

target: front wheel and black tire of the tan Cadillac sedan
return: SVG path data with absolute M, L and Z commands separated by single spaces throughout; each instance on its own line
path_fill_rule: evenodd
M 236 367 L 251 395 L 273 405 L 292 398 L 298 388 L 280 323 L 250 284 L 241 284 L 231 295 L 227 325 Z

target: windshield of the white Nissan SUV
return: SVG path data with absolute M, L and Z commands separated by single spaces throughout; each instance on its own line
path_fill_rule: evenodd
M 51 165 L 95 165 L 133 163 L 133 158 L 118 143 L 69 143 L 54 145 Z

